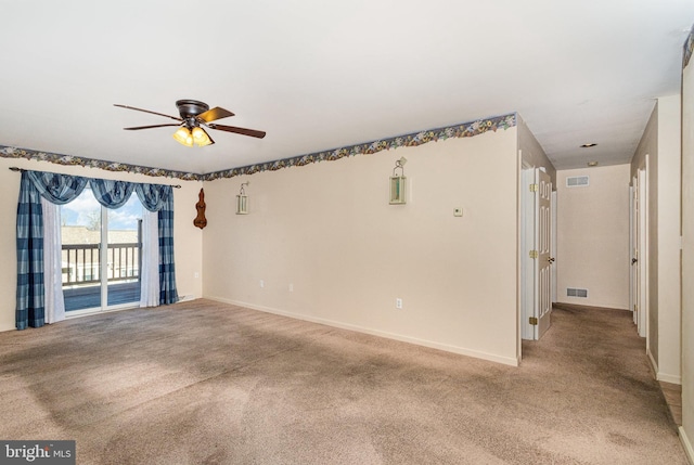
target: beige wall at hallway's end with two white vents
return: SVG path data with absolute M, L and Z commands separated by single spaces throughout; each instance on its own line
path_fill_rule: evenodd
M 590 185 L 567 188 L 566 178 Z M 557 181 L 557 300 L 629 308 L 629 165 L 560 170 Z M 588 298 L 567 297 L 567 287 Z

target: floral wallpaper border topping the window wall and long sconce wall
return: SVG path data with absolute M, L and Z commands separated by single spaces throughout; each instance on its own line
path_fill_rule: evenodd
M 30 148 L 20 148 L 8 145 L 0 145 L 0 157 L 2 158 L 26 158 L 40 162 L 50 162 L 57 165 L 83 166 L 99 168 L 106 171 L 123 171 L 154 177 L 177 178 L 184 181 L 214 181 L 216 179 L 234 178 L 242 175 L 253 175 L 260 171 L 277 171 L 282 168 L 293 166 L 305 166 L 318 162 L 331 162 L 347 156 L 370 155 L 391 148 L 406 146 L 417 146 L 429 142 L 442 141 L 451 138 L 472 138 L 498 129 L 509 129 L 516 126 L 516 114 L 512 113 L 503 116 L 483 118 L 472 122 L 463 122 L 438 129 L 429 129 L 411 134 L 398 135 L 389 139 L 382 139 L 363 144 L 346 147 L 333 148 L 324 152 L 317 152 L 307 155 L 298 155 L 274 162 L 249 165 L 240 168 L 231 168 L 222 171 L 215 171 L 205 175 L 193 172 L 172 171 L 162 168 L 151 168 L 124 163 L 105 162 L 94 158 L 78 157 L 73 155 L 53 154 L 49 152 L 34 151 Z

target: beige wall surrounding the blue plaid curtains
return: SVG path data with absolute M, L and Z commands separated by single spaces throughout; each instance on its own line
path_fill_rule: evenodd
M 50 163 L 30 162 L 26 159 L 0 158 L 0 212 L 4 221 L 0 222 L 0 331 L 15 328 L 15 288 L 16 288 L 16 210 L 20 193 L 20 173 L 8 168 L 16 166 L 25 169 L 64 172 L 91 178 L 123 179 L 133 182 L 155 182 L 181 184 L 175 190 L 175 257 L 177 286 L 179 296 L 202 296 L 200 273 L 202 263 L 201 230 L 193 225 L 195 203 L 202 183 L 191 181 L 152 178 L 143 175 L 111 172 L 82 167 L 66 167 Z M 195 273 L 198 277 L 194 277 Z M 30 330 L 27 330 L 30 331 Z

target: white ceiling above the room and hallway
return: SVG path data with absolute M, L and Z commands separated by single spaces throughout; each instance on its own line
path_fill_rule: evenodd
M 518 112 L 557 169 L 628 163 L 692 0 L 0 0 L 0 144 L 204 173 Z M 195 99 L 236 116 L 188 148 Z M 595 142 L 594 148 L 579 148 Z

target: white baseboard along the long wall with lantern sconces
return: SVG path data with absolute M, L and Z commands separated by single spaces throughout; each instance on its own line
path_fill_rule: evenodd
M 516 358 L 496 356 L 493 353 L 481 352 L 481 351 L 478 351 L 478 350 L 467 349 L 467 348 L 464 348 L 464 347 L 451 346 L 451 345 L 448 345 L 448 344 L 440 344 L 440 343 L 435 343 L 435 341 L 426 340 L 426 339 L 419 339 L 416 337 L 388 333 L 388 332 L 380 331 L 380 330 L 372 330 L 372 328 L 358 326 L 358 325 L 354 325 L 354 324 L 349 324 L 349 323 L 342 323 L 342 322 L 334 321 L 334 320 L 326 320 L 326 319 L 317 318 L 317 317 L 310 317 L 310 315 L 300 314 L 300 313 L 292 313 L 292 312 L 287 312 L 287 311 L 284 311 L 284 310 L 278 310 L 278 309 L 273 309 L 273 308 L 270 308 L 270 307 L 257 306 L 257 305 L 254 305 L 254 303 L 242 302 L 242 301 L 239 301 L 239 300 L 226 299 L 226 298 L 222 298 L 222 297 L 205 296 L 204 298 L 209 299 L 209 300 L 215 300 L 215 301 L 218 301 L 218 302 L 231 303 L 231 305 L 239 306 L 239 307 L 245 307 L 245 308 L 248 308 L 248 309 L 252 309 L 252 310 L 259 310 L 259 311 L 264 311 L 264 312 L 267 312 L 267 313 L 279 314 L 279 315 L 282 315 L 282 317 L 288 317 L 288 318 L 293 318 L 293 319 L 296 319 L 296 320 L 304 320 L 304 321 L 309 321 L 311 323 L 324 324 L 326 326 L 338 327 L 340 330 L 349 330 L 349 331 L 355 331 L 357 333 L 363 333 L 363 334 L 369 334 L 369 335 L 372 335 L 372 336 L 384 337 L 386 339 L 394 339 L 394 340 L 399 340 L 401 343 L 409 343 L 409 344 L 414 344 L 416 346 L 423 346 L 423 347 L 428 347 L 428 348 L 432 348 L 432 349 L 444 350 L 446 352 L 458 353 L 460 356 L 474 357 L 476 359 L 488 360 L 490 362 L 502 363 L 504 365 L 518 366 L 518 360 Z

